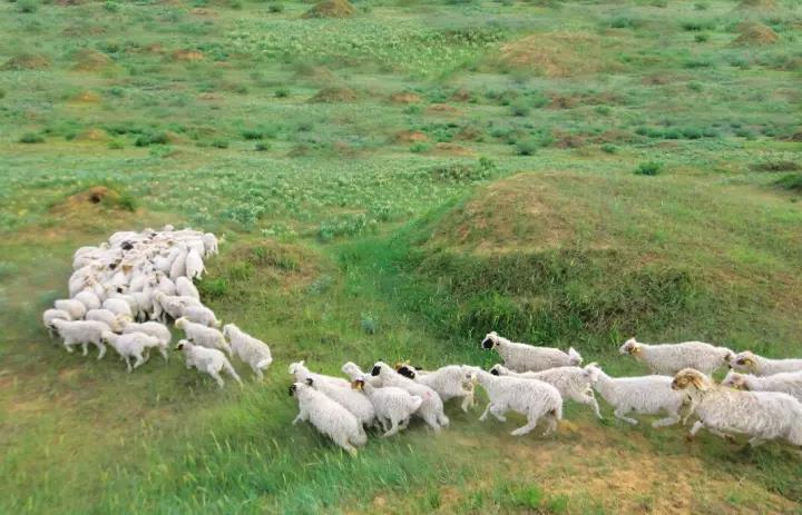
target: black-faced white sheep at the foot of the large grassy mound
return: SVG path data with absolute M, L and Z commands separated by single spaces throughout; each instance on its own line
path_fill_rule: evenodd
M 567 353 L 552 347 L 535 347 L 516 344 L 502 338 L 496 331 L 488 333 L 481 343 L 485 350 L 496 349 L 503 365 L 514 372 L 540 372 L 555 367 L 577 366 L 583 362 L 579 353 L 569 348 Z

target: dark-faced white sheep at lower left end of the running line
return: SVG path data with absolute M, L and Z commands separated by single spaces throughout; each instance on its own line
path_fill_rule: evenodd
M 293 425 L 309 420 L 321 434 L 355 456 L 356 447 L 368 443 L 368 435 L 351 412 L 304 383 L 290 386 L 290 395 L 299 399 L 299 414 Z

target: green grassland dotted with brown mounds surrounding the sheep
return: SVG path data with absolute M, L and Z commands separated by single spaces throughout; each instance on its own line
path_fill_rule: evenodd
M 451 407 L 354 459 L 285 394 L 491 329 L 613 374 L 634 334 L 801 356 L 796 2 L 311 7 L 0 3 L 0 513 L 802 513 L 782 445 Z M 202 295 L 264 385 L 49 344 L 75 248 L 167 221 L 224 235 Z

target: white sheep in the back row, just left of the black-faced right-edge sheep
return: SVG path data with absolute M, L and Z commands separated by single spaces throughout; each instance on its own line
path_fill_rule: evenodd
M 638 343 L 635 338 L 626 340 L 618 351 L 646 364 L 652 374 L 666 376 L 673 376 L 683 368 L 695 368 L 705 374 L 713 374 L 730 363 L 734 356 L 728 348 L 703 341 L 648 345 Z

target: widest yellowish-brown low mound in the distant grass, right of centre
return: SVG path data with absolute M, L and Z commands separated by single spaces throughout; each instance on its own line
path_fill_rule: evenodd
M 598 36 L 583 32 L 531 34 L 503 44 L 498 63 L 506 69 L 527 70 L 545 77 L 573 77 L 598 71 Z

